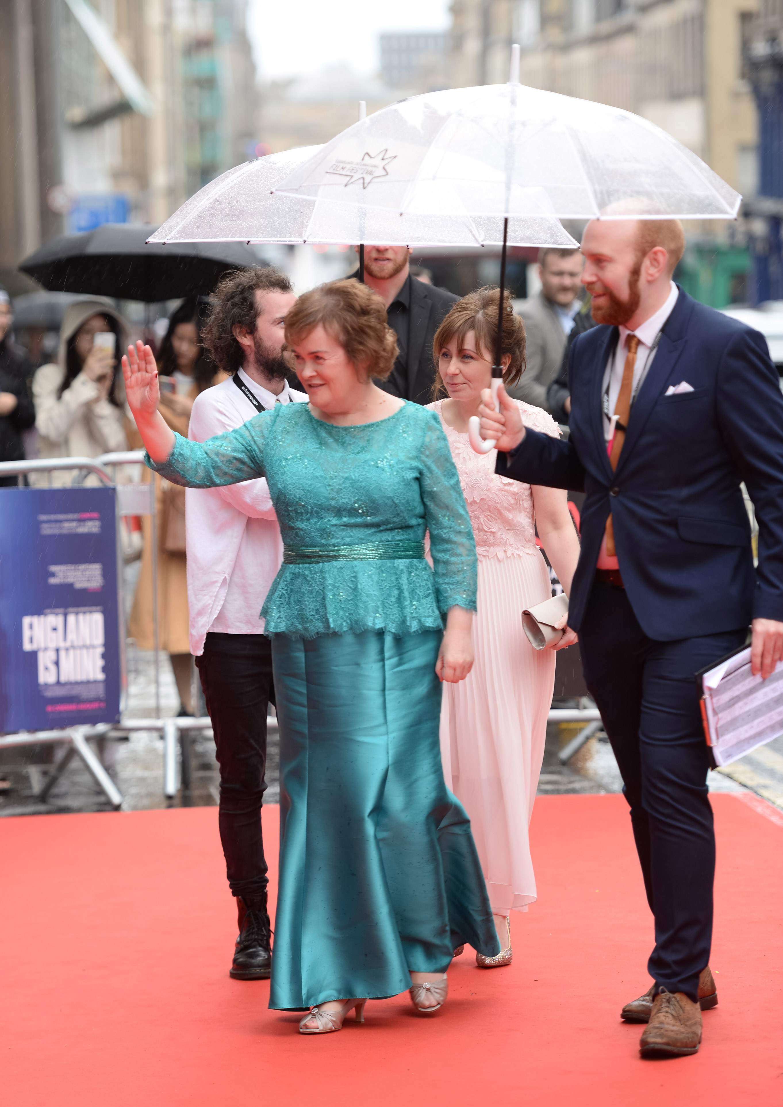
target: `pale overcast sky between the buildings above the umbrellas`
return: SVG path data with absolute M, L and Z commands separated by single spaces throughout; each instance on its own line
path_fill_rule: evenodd
M 247 31 L 262 81 L 349 64 L 379 68 L 381 31 L 443 31 L 451 0 L 250 0 Z

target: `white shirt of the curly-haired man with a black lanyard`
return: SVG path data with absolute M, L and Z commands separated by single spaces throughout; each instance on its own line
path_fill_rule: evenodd
M 266 408 L 307 403 L 307 394 L 285 385 L 279 396 L 239 379 Z M 193 404 L 188 438 L 205 442 L 235 431 L 258 412 L 233 379 L 206 389 Z M 282 539 L 264 477 L 220 488 L 188 488 L 185 529 L 190 653 L 204 652 L 207 631 L 260 634 L 259 612 L 282 562 Z

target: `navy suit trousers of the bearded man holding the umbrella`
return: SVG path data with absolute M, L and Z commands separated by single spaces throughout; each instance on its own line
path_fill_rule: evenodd
M 625 589 L 596 581 L 579 630 L 581 660 L 624 782 L 656 922 L 657 987 L 696 1002 L 712 941 L 715 837 L 694 673 L 742 645 L 746 629 L 659 642 Z

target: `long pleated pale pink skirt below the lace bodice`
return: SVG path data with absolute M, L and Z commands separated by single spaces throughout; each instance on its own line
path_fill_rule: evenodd
M 538 551 L 480 558 L 475 663 L 464 681 L 443 685 L 443 773 L 471 818 L 496 914 L 525 910 L 537 898 L 528 826 L 544 758 L 555 653 L 533 649 L 522 612 L 550 593 Z

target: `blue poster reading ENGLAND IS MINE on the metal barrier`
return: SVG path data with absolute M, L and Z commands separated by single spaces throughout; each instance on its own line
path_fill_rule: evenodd
M 120 717 L 114 489 L 0 488 L 0 732 Z

